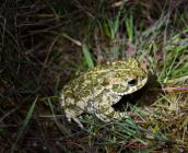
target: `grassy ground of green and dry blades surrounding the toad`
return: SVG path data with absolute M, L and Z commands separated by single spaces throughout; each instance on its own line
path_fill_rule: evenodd
M 188 86 L 185 1 L 118 2 L 4 0 L 0 8 L 0 149 L 188 151 L 188 94 L 177 90 Z M 8 8 L 13 10 L 4 13 Z M 62 86 L 77 71 L 129 57 L 151 75 L 141 105 L 131 105 L 120 121 L 103 122 L 84 115 L 84 129 L 69 123 L 59 104 Z

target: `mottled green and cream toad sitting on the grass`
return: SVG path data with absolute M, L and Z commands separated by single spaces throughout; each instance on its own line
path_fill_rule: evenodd
M 136 84 L 128 84 L 131 80 L 136 80 Z M 104 121 L 120 119 L 126 116 L 125 113 L 115 111 L 111 105 L 122 95 L 141 89 L 146 80 L 146 72 L 132 58 L 97 66 L 78 74 L 63 87 L 61 106 L 68 120 L 72 118 L 80 126 L 77 117 L 82 113 L 95 114 Z

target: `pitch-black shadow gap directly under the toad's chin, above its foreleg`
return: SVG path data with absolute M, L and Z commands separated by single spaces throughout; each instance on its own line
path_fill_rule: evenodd
M 142 86 L 140 90 L 126 95 L 120 95 L 121 98 L 111 105 L 115 110 L 122 110 L 127 108 L 127 104 L 136 105 L 139 104 L 139 99 L 146 94 L 148 85 Z

